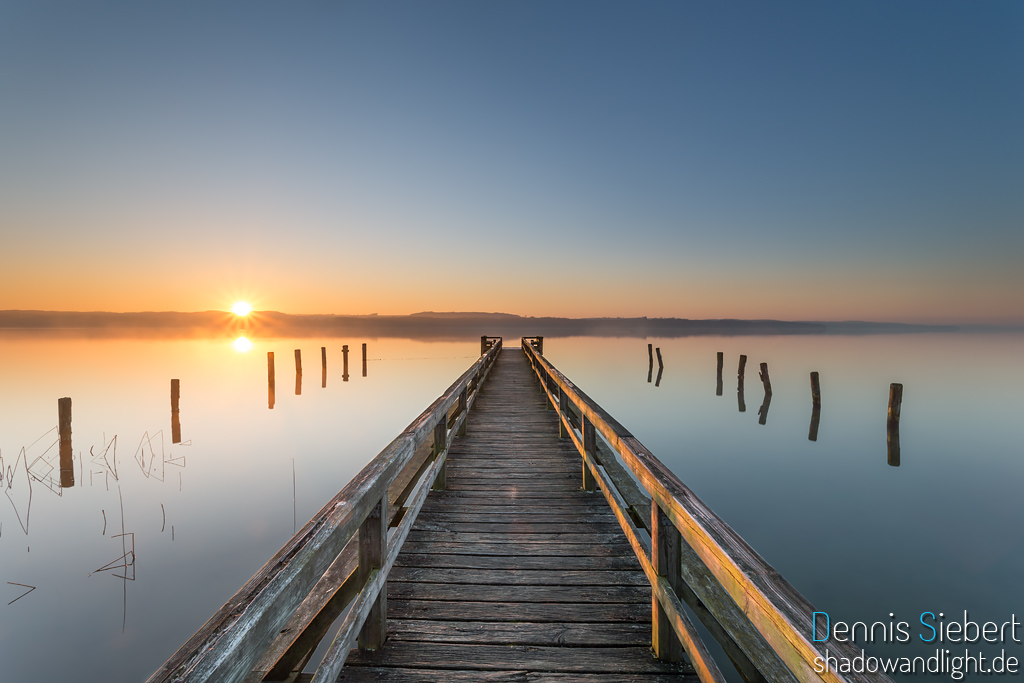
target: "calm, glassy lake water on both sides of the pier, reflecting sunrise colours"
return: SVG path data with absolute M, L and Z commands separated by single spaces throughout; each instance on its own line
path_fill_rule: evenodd
M 928 656 L 922 612 L 1024 614 L 1022 340 L 549 338 L 545 352 L 816 608 L 910 624 L 913 642 L 869 644 L 869 653 Z M 369 340 L 362 377 L 362 341 L 255 340 L 239 350 L 231 340 L 0 337 L 0 678 L 145 679 L 479 350 L 478 339 Z M 659 386 L 647 381 L 648 342 L 665 358 Z M 762 361 L 773 387 L 763 425 Z M 811 371 L 821 378 L 816 441 Z M 171 379 L 180 380 L 180 443 Z M 899 467 L 887 463 L 890 382 L 905 387 Z M 75 485 L 65 488 L 62 396 L 73 399 L 75 454 Z M 1024 654 L 1019 643 L 1000 647 Z

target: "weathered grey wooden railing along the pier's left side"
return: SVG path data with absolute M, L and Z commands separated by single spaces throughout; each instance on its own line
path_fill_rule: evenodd
M 501 337 L 374 458 L 150 678 L 294 680 L 340 618 L 313 681 L 337 678 L 349 651 L 387 637 L 387 575 L 431 488 L 445 484 L 451 438 L 464 433 Z

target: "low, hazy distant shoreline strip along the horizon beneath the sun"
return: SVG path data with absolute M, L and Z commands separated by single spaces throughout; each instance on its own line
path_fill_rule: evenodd
M 1020 327 L 914 325 L 869 322 L 788 322 L 677 317 L 525 317 L 508 313 L 414 313 L 412 315 L 295 315 L 254 311 L 76 312 L 0 311 L 0 332 L 52 333 L 70 337 L 391 337 L 427 340 L 481 335 L 515 339 L 545 337 L 693 337 L 742 335 L 874 335 L 934 332 L 1019 331 Z

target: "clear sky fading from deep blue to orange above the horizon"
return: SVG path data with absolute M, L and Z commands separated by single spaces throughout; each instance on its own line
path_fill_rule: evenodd
M 0 0 L 0 309 L 1024 323 L 1024 3 Z

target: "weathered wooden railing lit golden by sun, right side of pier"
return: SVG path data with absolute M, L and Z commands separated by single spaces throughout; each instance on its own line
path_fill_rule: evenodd
M 600 488 L 650 582 L 658 658 L 679 660 L 682 648 L 701 681 L 724 680 L 683 609 L 686 604 L 749 683 L 890 680 L 881 673 L 828 671 L 822 643 L 813 640 L 811 604 L 556 370 L 544 357 L 543 337 L 524 337 L 522 348 L 557 412 L 561 436 L 580 451 L 584 488 Z M 860 650 L 829 639 L 827 653 L 853 660 Z

